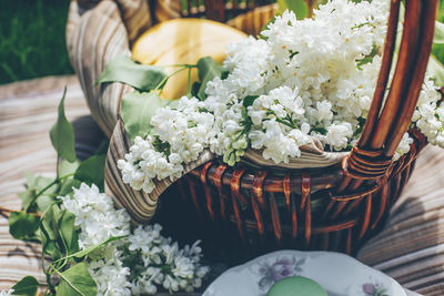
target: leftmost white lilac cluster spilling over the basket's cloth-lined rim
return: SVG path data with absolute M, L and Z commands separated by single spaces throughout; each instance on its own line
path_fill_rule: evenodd
M 151 119 L 154 136 L 137 136 L 130 153 L 118 161 L 122 180 L 135 190 L 151 193 L 154 180 L 180 177 L 182 163 L 195 161 L 214 137 L 214 116 L 199 112 L 198 99 L 182 98 L 178 110 L 159 109 Z

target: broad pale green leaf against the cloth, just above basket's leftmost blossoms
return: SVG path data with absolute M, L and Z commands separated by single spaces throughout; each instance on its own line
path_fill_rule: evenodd
M 167 105 L 174 108 L 178 103 L 179 100 L 160 99 L 155 92 L 135 91 L 123 95 L 120 115 L 130 139 L 134 140 L 138 135 L 145 137 L 152 129 L 150 121 L 155 111 Z

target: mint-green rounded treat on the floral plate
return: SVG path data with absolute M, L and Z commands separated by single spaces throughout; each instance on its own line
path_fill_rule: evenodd
M 313 279 L 292 276 L 281 279 L 270 288 L 266 296 L 327 296 L 320 284 Z

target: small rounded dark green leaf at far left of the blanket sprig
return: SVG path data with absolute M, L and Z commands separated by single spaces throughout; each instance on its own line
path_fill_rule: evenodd
M 9 216 L 9 233 L 17 239 L 36 239 L 39 218 L 26 212 L 12 212 Z

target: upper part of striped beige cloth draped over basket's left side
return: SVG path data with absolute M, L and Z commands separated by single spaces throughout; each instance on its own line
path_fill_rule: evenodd
M 94 84 L 110 60 L 131 55 L 129 43 L 151 24 L 150 11 L 144 0 L 104 0 L 82 4 L 84 2 L 71 2 L 67 24 L 68 51 L 94 120 L 111 136 L 120 99 L 131 88 L 121 83 Z

